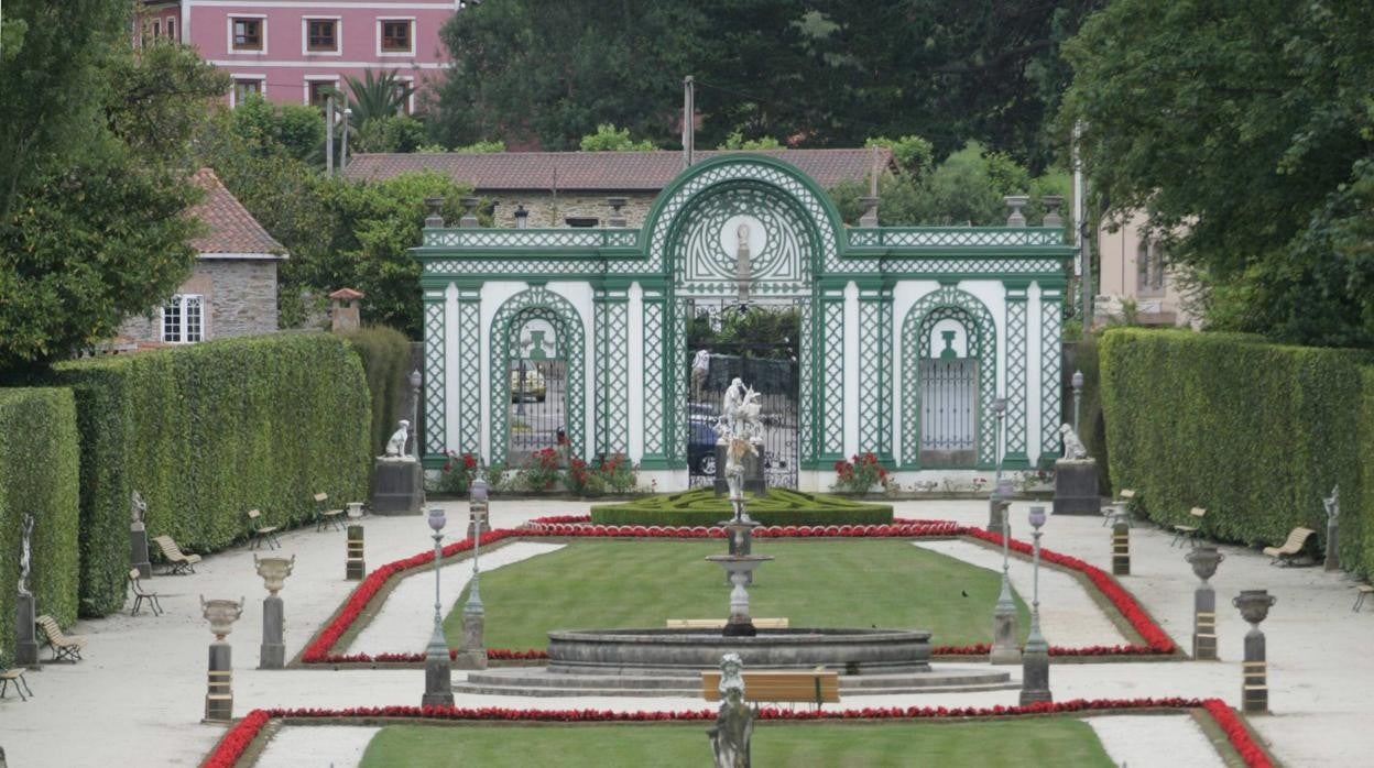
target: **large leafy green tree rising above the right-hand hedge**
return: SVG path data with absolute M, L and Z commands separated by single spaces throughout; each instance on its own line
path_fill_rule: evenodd
M 1149 214 L 1215 326 L 1374 343 L 1367 3 L 1117 0 L 1065 45 L 1095 207 Z

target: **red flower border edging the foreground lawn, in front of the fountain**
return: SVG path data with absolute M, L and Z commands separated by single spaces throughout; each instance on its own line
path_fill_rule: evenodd
M 1270 768 L 1272 760 L 1254 741 L 1245 721 L 1221 699 L 1074 699 L 1068 702 L 1041 702 L 1028 706 L 991 708 L 864 708 L 846 710 L 794 710 L 761 708 L 757 720 L 763 728 L 771 721 L 870 721 L 870 723 L 958 723 L 966 719 L 996 719 L 998 721 L 1022 717 L 1054 714 L 1112 714 L 1114 712 L 1189 712 L 1206 713 L 1210 725 L 1226 734 L 1234 754 L 1223 754 L 1228 764 L 1239 761 L 1248 768 Z M 352 709 L 254 709 L 229 728 L 220 742 L 206 756 L 205 768 L 238 768 L 251 765 L 261 753 L 262 730 L 271 720 L 286 724 L 293 721 L 311 725 L 392 725 L 392 724 L 440 724 L 462 723 L 545 723 L 545 724 L 589 724 L 589 723 L 698 723 L 714 721 L 710 709 L 695 712 L 610 712 L 592 709 L 504 709 L 504 708 L 449 708 L 449 706 L 367 706 Z M 754 734 L 763 728 L 756 728 Z M 705 736 L 699 736 L 705 742 Z M 1217 749 L 1223 749 L 1220 742 Z M 705 743 L 702 745 L 705 754 Z

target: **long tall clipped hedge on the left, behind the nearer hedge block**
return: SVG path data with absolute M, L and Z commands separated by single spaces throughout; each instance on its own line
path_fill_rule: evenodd
M 273 334 L 63 364 L 81 430 L 82 611 L 124 602 L 129 493 L 148 536 L 206 552 L 311 518 L 311 495 L 361 500 L 371 412 L 363 365 L 330 334 Z

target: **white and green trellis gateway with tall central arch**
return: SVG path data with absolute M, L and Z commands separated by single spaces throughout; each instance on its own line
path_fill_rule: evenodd
M 991 470 L 996 397 L 1004 467 L 1058 448 L 1058 227 L 846 228 L 808 176 L 747 154 L 684 170 L 640 229 L 442 224 L 412 249 L 429 468 L 447 451 L 518 463 L 547 442 L 686 488 L 712 404 L 688 324 L 742 301 L 794 312 L 775 365 L 790 378 L 771 379 L 794 408 L 776 420 L 791 434 L 779 456 L 794 452 L 779 462 L 800 467 L 783 482 L 824 489 L 861 452 L 899 478 Z

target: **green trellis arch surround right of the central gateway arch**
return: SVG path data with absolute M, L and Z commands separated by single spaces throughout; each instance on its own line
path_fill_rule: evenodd
M 998 397 L 998 334 L 992 313 L 973 294 L 941 286 L 907 312 L 901 324 L 901 466 L 921 468 L 921 360 L 930 357 L 930 331 L 940 320 L 959 320 L 967 356 L 978 361 L 977 463 L 996 466 L 996 423 L 988 418 Z

